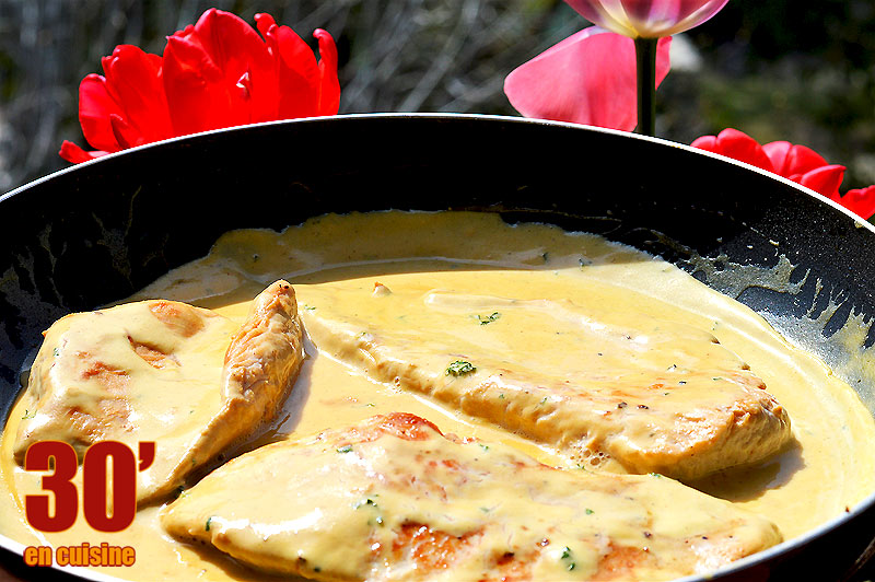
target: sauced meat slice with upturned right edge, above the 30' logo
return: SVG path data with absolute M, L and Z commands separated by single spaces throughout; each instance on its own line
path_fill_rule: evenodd
M 14 443 L 23 463 L 36 441 L 60 440 L 82 458 L 97 441 L 136 452 L 140 502 L 185 477 L 276 414 L 303 360 L 294 290 L 277 281 L 243 324 L 174 301 L 142 301 L 68 315 L 45 334 L 24 393 Z

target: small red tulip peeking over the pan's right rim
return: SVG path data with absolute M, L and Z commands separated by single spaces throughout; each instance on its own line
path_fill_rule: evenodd
M 704 136 L 692 142 L 699 148 L 791 179 L 821 196 L 833 200 L 851 212 L 868 219 L 875 214 L 875 186 L 839 194 L 844 177 L 844 166 L 828 163 L 820 154 L 805 146 L 789 141 L 772 141 L 760 146 L 750 136 L 737 129 L 724 129 L 718 136 Z

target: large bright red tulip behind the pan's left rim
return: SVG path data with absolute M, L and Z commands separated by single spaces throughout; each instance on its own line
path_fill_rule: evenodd
M 65 141 L 73 163 L 174 136 L 272 119 L 334 115 L 340 104 L 337 48 L 317 30 L 320 60 L 288 26 L 256 15 L 258 35 L 210 9 L 167 37 L 164 56 L 135 46 L 103 59 L 104 75 L 79 85 L 79 120 L 96 151 Z

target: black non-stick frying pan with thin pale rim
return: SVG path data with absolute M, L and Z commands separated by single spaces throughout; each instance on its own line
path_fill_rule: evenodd
M 875 415 L 875 386 L 852 365 L 859 347 L 831 341 L 849 314 L 875 315 L 868 223 L 771 174 L 657 139 L 517 118 L 386 114 L 179 138 L 0 197 L 0 419 L 55 319 L 131 294 L 207 254 L 225 231 L 281 230 L 325 212 L 447 208 L 630 244 L 772 321 L 814 324 L 832 310 L 814 347 Z M 727 265 L 781 261 L 793 267 L 792 292 L 716 276 Z M 796 329 L 781 330 L 793 340 Z M 874 542 L 871 496 L 714 579 L 863 580 Z M 51 573 L 21 566 L 11 540 L 0 537 L 0 546 L 4 569 Z

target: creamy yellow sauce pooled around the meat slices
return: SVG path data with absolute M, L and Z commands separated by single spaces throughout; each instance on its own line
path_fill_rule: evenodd
M 294 286 L 304 312 L 318 309 L 335 284 L 368 290 L 362 293 L 365 306 L 374 283 L 380 282 L 389 290 L 572 300 L 586 305 L 596 319 L 629 319 L 642 313 L 697 327 L 713 334 L 765 381 L 789 412 L 794 439 L 789 449 L 766 462 L 691 485 L 771 520 L 785 539 L 839 516 L 875 490 L 875 455 L 867 447 L 875 441 L 875 421 L 856 394 L 820 360 L 791 346 L 749 309 L 676 267 L 597 236 L 545 225 L 510 226 L 492 214 L 324 217 L 281 234 L 229 233 L 208 257 L 172 271 L 131 299 L 185 301 L 242 322 L 252 299 L 279 278 Z M 477 314 L 464 317 L 469 315 Z M 306 322 L 306 313 L 304 317 Z M 475 333 L 478 322 L 464 317 L 446 321 L 441 334 L 467 334 L 459 327 L 466 323 Z M 552 349 L 542 347 L 546 336 L 536 334 L 530 341 L 541 342 L 541 352 Z M 241 451 L 342 428 L 375 414 L 406 411 L 433 421 L 445 433 L 503 442 L 553 466 L 580 463 L 425 396 L 371 380 L 312 342 L 305 350 L 308 357 L 280 417 Z M 561 342 L 556 353 L 561 353 Z M 585 359 L 581 365 L 586 365 Z M 81 516 L 74 527 L 60 534 L 31 528 L 24 517 L 24 496 L 39 492 L 39 476 L 22 470 L 12 458 L 23 416 L 19 403 L 0 441 L 0 534 L 24 545 L 107 542 L 133 546 L 133 567 L 100 569 L 132 580 L 260 577 L 218 551 L 174 540 L 159 525 L 160 507 L 142 509 L 133 525 L 119 534 L 94 532 Z M 161 443 L 158 446 L 160 454 Z M 599 468 L 618 469 L 610 463 Z

